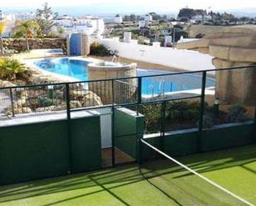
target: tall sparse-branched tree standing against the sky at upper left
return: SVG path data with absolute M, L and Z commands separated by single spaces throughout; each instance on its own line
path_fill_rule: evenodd
M 36 22 L 39 25 L 36 31 L 37 36 L 48 36 L 51 32 L 51 28 L 56 26 L 54 20 L 58 17 L 58 13 L 53 12 L 51 7 L 48 7 L 46 2 L 42 9 L 36 10 Z

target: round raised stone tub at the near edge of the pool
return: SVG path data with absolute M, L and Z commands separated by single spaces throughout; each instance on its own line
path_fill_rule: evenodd
M 88 65 L 89 80 L 116 79 L 136 76 L 137 64 L 104 65 L 104 62 Z M 114 89 L 114 93 L 113 93 Z M 131 103 L 137 92 L 137 79 L 105 80 L 89 83 L 89 90 L 96 93 L 104 104 Z

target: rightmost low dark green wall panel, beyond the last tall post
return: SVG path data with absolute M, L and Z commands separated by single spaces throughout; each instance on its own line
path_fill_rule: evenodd
M 205 130 L 200 139 L 201 151 L 214 151 L 252 144 L 255 138 L 254 127 L 252 122 Z

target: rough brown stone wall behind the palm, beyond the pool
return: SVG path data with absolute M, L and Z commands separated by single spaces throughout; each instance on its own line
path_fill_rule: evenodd
M 44 38 L 29 39 L 29 47 L 31 50 L 36 49 L 62 49 L 66 47 L 66 38 Z M 27 50 L 25 39 L 3 39 L 3 47 L 8 50 Z

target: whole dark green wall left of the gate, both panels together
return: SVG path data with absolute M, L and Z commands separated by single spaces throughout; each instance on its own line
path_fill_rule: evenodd
M 99 169 L 99 116 L 72 119 L 68 128 L 66 120 L 0 127 L 0 184 Z

